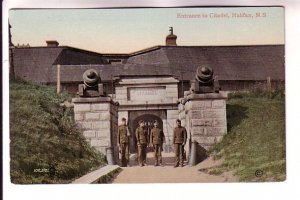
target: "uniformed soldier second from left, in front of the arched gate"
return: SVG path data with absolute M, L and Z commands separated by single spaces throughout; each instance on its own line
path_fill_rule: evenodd
M 143 120 L 139 121 L 139 127 L 135 130 L 135 136 L 138 145 L 138 161 L 141 167 L 146 164 L 146 155 L 147 155 L 147 145 L 148 145 L 148 136 L 147 131 L 145 130 L 145 122 Z

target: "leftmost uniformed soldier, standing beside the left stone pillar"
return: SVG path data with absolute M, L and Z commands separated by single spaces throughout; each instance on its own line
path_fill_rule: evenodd
M 121 153 L 121 166 L 127 167 L 129 161 L 129 130 L 126 125 L 126 119 L 122 118 L 121 125 L 118 127 L 118 146 Z

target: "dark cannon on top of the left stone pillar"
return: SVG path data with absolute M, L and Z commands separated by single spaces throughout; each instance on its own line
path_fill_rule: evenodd
M 105 88 L 101 83 L 101 77 L 96 70 L 86 70 L 82 78 L 83 84 L 78 85 L 78 94 L 80 97 L 106 96 Z

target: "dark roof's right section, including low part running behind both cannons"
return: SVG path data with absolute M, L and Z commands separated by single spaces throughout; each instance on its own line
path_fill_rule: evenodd
M 83 72 L 89 68 L 98 70 L 104 81 L 122 75 L 173 75 L 180 79 L 183 75 L 184 80 L 192 80 L 201 65 L 212 67 L 219 80 L 285 79 L 284 46 L 260 45 L 156 46 L 132 53 L 123 65 L 63 66 L 62 80 L 82 81 Z M 52 77 L 55 81 L 55 74 Z

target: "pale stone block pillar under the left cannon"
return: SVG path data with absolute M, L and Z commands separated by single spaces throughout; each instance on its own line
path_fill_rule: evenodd
M 107 148 L 112 148 L 113 159 L 117 162 L 118 114 L 115 103 L 110 97 L 73 98 L 72 102 L 75 121 L 83 136 L 103 155 L 107 154 Z

